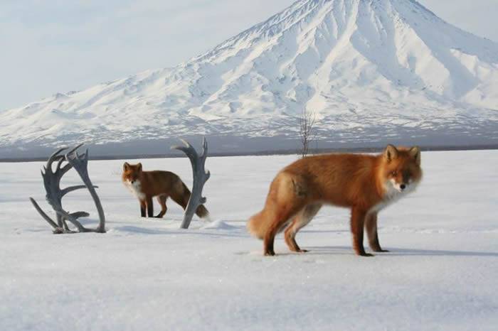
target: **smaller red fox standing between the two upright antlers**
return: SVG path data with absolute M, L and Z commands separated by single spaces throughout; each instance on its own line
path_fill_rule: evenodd
M 138 198 L 140 213 L 145 217 L 154 217 L 154 204 L 152 197 L 157 197 L 161 205 L 161 212 L 156 217 L 161 218 L 166 214 L 166 200 L 168 197 L 181 205 L 184 209 L 189 203 L 190 190 L 181 181 L 178 175 L 169 171 L 142 171 L 142 163 L 131 165 L 124 163 L 122 181 L 124 185 Z M 198 217 L 208 217 L 209 212 L 204 205 L 197 207 Z

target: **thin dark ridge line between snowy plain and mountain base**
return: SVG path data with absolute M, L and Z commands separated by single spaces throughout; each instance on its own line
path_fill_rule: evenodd
M 420 146 L 422 151 L 489 151 L 497 150 L 498 144 L 494 145 L 470 145 L 470 146 Z M 323 154 L 323 153 L 378 153 L 383 151 L 382 147 L 353 147 L 353 148 L 314 148 L 309 153 Z M 55 148 L 54 148 L 55 149 Z M 208 153 L 210 157 L 231 157 L 231 156 L 283 156 L 300 154 L 299 149 L 282 149 L 275 151 L 256 151 L 256 152 L 218 152 Z M 92 161 L 106 161 L 106 160 L 136 160 L 147 158 L 184 158 L 184 155 L 176 153 L 164 154 L 130 154 L 130 155 L 117 155 L 117 156 L 91 156 Z M 46 161 L 48 156 L 40 158 L 0 158 L 0 163 L 21 163 L 21 162 L 40 162 Z

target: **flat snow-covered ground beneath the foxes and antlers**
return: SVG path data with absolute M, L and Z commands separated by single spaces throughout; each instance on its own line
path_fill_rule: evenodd
M 189 230 L 172 203 L 139 217 L 123 161 L 91 161 L 107 234 L 71 235 L 28 202 L 48 209 L 42 163 L 1 163 L 0 330 L 497 330 L 498 151 L 424 152 L 419 190 L 381 213 L 391 253 L 354 256 L 348 212 L 328 207 L 297 238 L 308 254 L 280 236 L 264 257 L 245 220 L 295 158 L 208 158 L 213 222 Z M 143 165 L 190 183 L 186 158 Z M 87 192 L 65 207 L 96 220 Z

